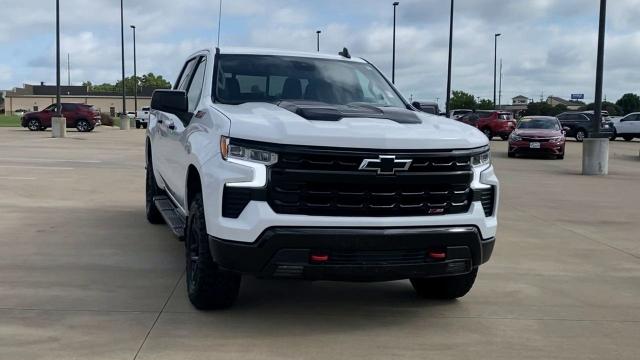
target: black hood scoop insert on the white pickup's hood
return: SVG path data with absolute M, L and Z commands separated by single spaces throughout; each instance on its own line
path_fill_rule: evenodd
M 395 121 L 399 124 L 421 124 L 415 112 L 392 107 L 377 107 L 366 103 L 332 105 L 317 101 L 281 101 L 279 107 L 307 120 L 340 121 L 344 118 L 372 118 Z

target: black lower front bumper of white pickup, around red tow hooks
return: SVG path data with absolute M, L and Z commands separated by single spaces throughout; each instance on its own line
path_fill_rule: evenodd
M 422 228 L 274 227 L 252 244 L 209 237 L 221 268 L 259 277 L 390 281 L 465 274 L 487 262 L 495 238 L 473 226 Z M 432 259 L 430 251 L 446 254 Z M 321 253 L 327 260 L 314 261 Z

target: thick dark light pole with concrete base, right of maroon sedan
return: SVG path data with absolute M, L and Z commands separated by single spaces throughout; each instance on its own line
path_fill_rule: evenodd
M 609 139 L 600 133 L 602 126 L 602 83 L 604 73 L 604 43 L 607 20 L 607 0 L 600 0 L 600 26 L 598 31 L 598 63 L 596 66 L 596 99 L 593 113 L 593 132 L 584 139 L 582 147 L 582 174 L 607 175 L 609 173 Z

